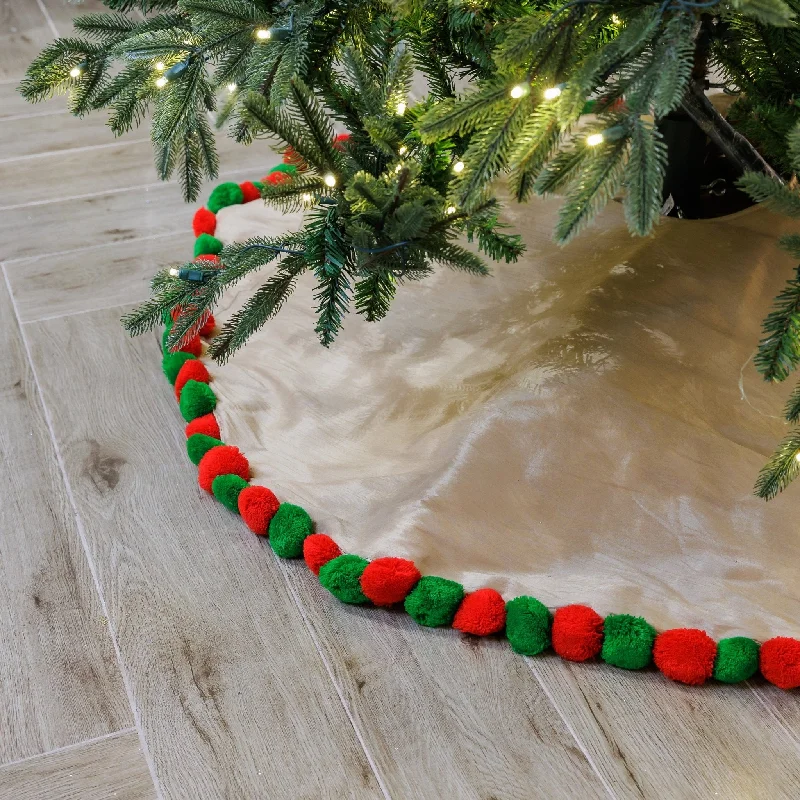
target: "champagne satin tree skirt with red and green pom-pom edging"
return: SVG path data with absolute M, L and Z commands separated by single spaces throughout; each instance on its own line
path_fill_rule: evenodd
M 229 243 L 299 227 L 252 192 L 219 194 L 196 233 Z M 346 602 L 505 631 L 525 654 L 552 643 L 571 660 L 654 659 L 692 684 L 748 678 L 760 657 L 794 687 L 795 500 L 752 494 L 790 388 L 751 363 L 792 266 L 775 247 L 784 222 L 752 209 L 632 239 L 612 204 L 560 249 L 558 205 L 510 207 L 528 245 L 518 264 L 402 286 L 384 321 L 349 316 L 329 350 L 304 276 L 228 364 L 201 356 L 213 395 L 186 383 L 206 380 L 200 364 L 183 367 L 188 432 L 214 434 L 216 419 L 216 438 L 247 457 L 189 439 L 201 485 L 257 532 L 269 525 L 279 555 L 305 540 Z M 223 298 L 217 324 L 265 277 Z M 268 492 L 239 494 L 246 478 L 284 501 L 274 517 Z M 302 509 L 327 536 L 306 539 Z M 760 656 L 753 640 L 770 640 Z

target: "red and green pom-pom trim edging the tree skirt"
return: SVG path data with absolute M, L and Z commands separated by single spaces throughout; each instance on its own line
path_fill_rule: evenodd
M 341 147 L 341 143 L 337 144 Z M 284 164 L 270 171 L 273 180 L 291 180 L 298 166 L 302 169 L 302 164 L 296 165 L 291 154 L 287 152 L 287 155 L 290 157 L 285 158 Z M 260 186 L 259 181 L 240 184 L 237 188 L 243 195 L 241 202 L 258 199 L 255 190 Z M 214 217 L 215 227 L 216 217 L 207 207 L 198 209 L 195 215 L 195 235 L 205 236 L 203 241 L 213 238 L 211 217 Z M 199 257 L 215 258 L 205 254 Z M 212 317 L 201 335 L 213 336 L 213 325 Z M 193 356 L 189 353 L 167 355 L 164 372 L 167 379 L 175 383 L 184 361 Z M 186 372 L 201 374 L 196 370 L 197 367 L 192 366 Z M 185 394 L 181 390 L 186 385 L 200 392 L 202 400 L 202 408 L 186 409 L 189 413 L 184 416 L 192 417 L 186 426 L 187 437 L 204 434 L 219 439 L 219 425 L 212 413 L 216 405 L 213 390 L 206 383 L 189 380 L 178 388 L 179 397 Z M 200 415 L 203 409 L 207 410 Z M 215 449 L 230 452 L 233 460 L 209 468 L 215 459 Z M 690 686 L 698 686 L 711 678 L 721 683 L 744 681 L 760 671 L 781 689 L 800 687 L 800 639 L 775 637 L 759 645 L 752 639 L 735 637 L 717 643 L 704 631 L 696 629 L 678 628 L 656 633 L 646 620 L 627 614 L 610 614 L 603 619 L 588 606 L 549 609 L 536 598 L 527 596 L 506 603 L 499 592 L 488 587 L 465 594 L 455 581 L 421 575 L 413 562 L 406 559 L 385 557 L 369 562 L 358 555 L 343 553 L 330 536 L 314 532 L 313 521 L 304 509 L 279 502 L 270 489 L 249 483 L 247 459 L 235 447 L 218 445 L 209 449 L 203 459 L 206 456 L 209 456 L 206 469 L 201 470 L 205 473 L 201 475 L 203 488 L 210 493 L 213 491 L 213 496 L 233 513 L 241 514 L 258 535 L 268 535 L 275 522 L 277 535 L 271 542 L 273 551 L 282 558 L 303 557 L 323 586 L 344 603 L 376 607 L 403 603 L 406 612 L 420 625 L 450 626 L 477 636 L 504 631 L 511 648 L 528 656 L 552 647 L 570 661 L 601 658 L 622 669 L 642 669 L 652 660 L 668 678 Z M 233 468 L 228 469 L 231 465 Z M 283 512 L 279 513 L 281 509 Z

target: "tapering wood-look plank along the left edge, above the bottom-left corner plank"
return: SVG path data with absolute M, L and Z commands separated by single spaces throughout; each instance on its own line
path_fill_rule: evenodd
M 3 764 L 129 727 L 132 716 L 1 279 L 0 341 Z

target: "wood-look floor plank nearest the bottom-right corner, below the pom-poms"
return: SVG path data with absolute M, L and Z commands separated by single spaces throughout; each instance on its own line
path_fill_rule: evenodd
M 555 657 L 528 665 L 618 797 L 800 796 L 797 739 L 747 684 L 683 686 L 654 671 Z

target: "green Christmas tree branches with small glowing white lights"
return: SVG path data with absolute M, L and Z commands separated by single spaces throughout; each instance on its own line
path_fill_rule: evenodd
M 77 115 L 109 109 L 116 135 L 151 116 L 156 169 L 177 174 L 188 200 L 217 173 L 209 112 L 243 144 L 289 150 L 297 167 L 261 191 L 304 211 L 299 231 L 232 244 L 221 266 L 163 270 L 125 318 L 141 333 L 180 306 L 171 347 L 253 271 L 272 270 L 214 340 L 220 361 L 280 310 L 304 271 L 316 279 L 316 330 L 328 346 L 351 307 L 379 320 L 400 284 L 436 265 L 488 272 L 462 236 L 491 259 L 515 260 L 521 241 L 498 221 L 500 175 L 520 202 L 563 195 L 561 243 L 620 194 L 631 233 L 645 236 L 662 213 L 662 125 L 675 114 L 747 176 L 755 199 L 800 210 L 784 184 L 800 141 L 798 0 L 104 3 L 108 13 L 78 17 L 75 36 L 31 64 L 26 98 L 67 92 Z M 427 96 L 411 103 L 415 71 Z M 712 75 L 739 93 L 727 118 L 707 97 Z M 794 237 L 784 245 L 800 258 Z M 800 361 L 800 277 L 765 330 L 757 366 L 782 380 Z M 800 399 L 787 414 L 800 417 Z M 794 477 L 798 451 L 800 433 L 768 465 L 760 494 Z

